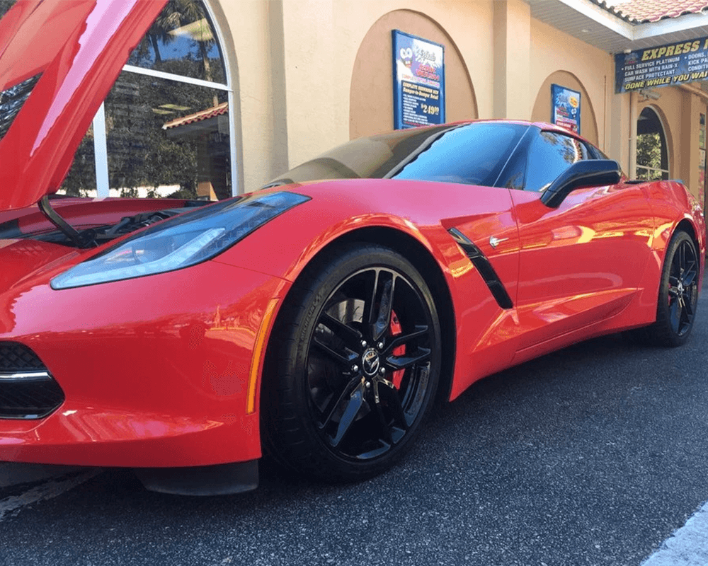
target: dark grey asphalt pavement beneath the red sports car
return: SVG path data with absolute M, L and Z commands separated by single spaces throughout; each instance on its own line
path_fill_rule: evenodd
M 590 340 L 476 383 L 379 478 L 265 462 L 229 497 L 0 464 L 0 566 L 640 565 L 708 501 L 708 291 L 687 345 Z

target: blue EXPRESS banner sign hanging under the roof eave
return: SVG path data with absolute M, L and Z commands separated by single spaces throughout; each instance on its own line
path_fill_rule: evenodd
M 615 55 L 615 92 L 708 79 L 708 37 Z

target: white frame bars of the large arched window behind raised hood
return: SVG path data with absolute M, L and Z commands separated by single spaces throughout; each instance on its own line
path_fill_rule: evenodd
M 219 91 L 226 91 L 229 102 L 229 153 L 231 156 L 231 192 L 232 196 L 241 194 L 239 187 L 239 176 L 237 173 L 236 163 L 236 125 L 234 121 L 234 90 L 231 85 L 231 69 L 229 68 L 229 60 L 224 55 L 222 33 L 217 25 L 212 7 L 206 0 L 202 0 L 202 4 L 207 10 L 210 23 L 214 28 L 216 40 L 219 42 L 219 53 L 222 54 L 224 62 L 224 72 L 226 73 L 226 84 L 215 83 L 212 81 L 204 81 L 202 79 L 193 79 L 189 76 L 176 75 L 166 73 L 164 71 L 155 71 L 153 69 L 145 69 L 144 67 L 136 67 L 135 65 L 123 65 L 122 70 L 128 73 L 135 73 L 147 76 L 154 76 L 156 79 L 166 79 L 177 83 L 187 83 L 196 86 L 206 86 Z M 93 117 L 93 151 L 96 162 L 96 196 L 98 198 L 108 197 L 110 194 L 110 182 L 108 176 L 108 141 L 105 131 L 105 106 L 101 103 L 96 115 Z

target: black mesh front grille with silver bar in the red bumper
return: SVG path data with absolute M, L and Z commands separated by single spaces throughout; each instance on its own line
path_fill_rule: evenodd
M 0 342 L 0 419 L 41 419 L 63 402 L 62 388 L 35 352 Z

